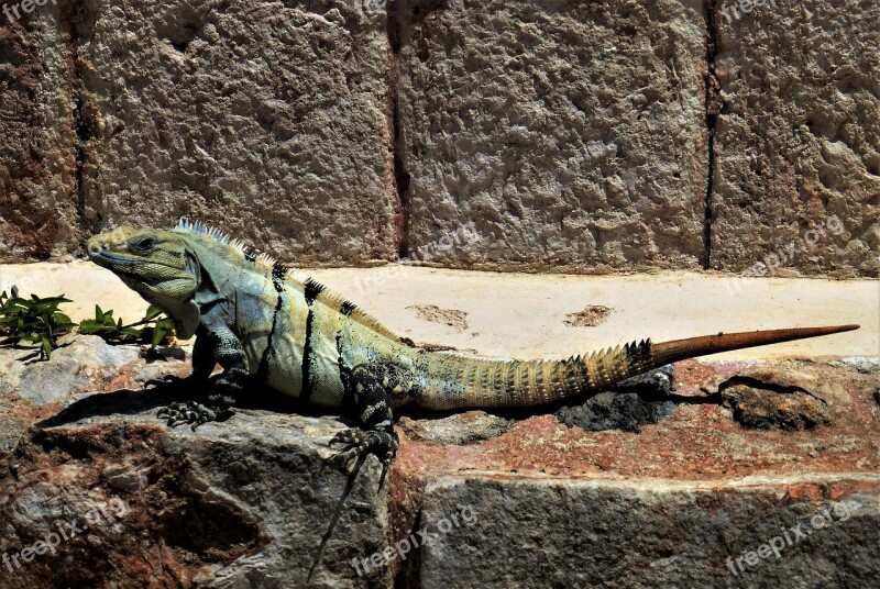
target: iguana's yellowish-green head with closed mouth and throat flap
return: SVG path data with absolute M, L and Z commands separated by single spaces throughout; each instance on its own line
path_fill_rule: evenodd
M 91 237 L 86 249 L 92 262 L 119 276 L 129 288 L 172 319 L 185 322 L 178 332 L 195 331 L 189 302 L 199 286 L 199 265 L 179 233 L 117 227 Z M 186 315 L 186 316 L 184 316 Z M 198 316 L 196 316 L 196 324 Z M 182 329 L 183 327 L 183 329 Z

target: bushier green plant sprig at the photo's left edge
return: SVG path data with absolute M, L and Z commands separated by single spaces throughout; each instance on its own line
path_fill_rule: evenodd
M 58 347 L 58 337 L 70 333 L 76 324 L 58 310 L 61 297 L 41 299 L 31 294 L 30 299 L 19 297 L 19 289 L 12 287 L 11 294 L 0 293 L 0 335 L 6 337 L 0 345 L 16 346 L 21 342 L 38 345 L 40 359 L 48 359 L 52 351 Z

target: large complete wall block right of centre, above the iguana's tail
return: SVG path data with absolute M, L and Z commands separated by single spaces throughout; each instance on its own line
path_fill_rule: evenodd
M 400 2 L 410 251 L 431 264 L 697 267 L 702 3 Z M 454 237 L 473 221 L 481 240 Z M 444 238 L 446 237 L 446 238 Z

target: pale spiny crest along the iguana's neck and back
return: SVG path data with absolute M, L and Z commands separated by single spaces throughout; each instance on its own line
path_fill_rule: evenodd
M 278 260 L 274 257 L 270 256 L 268 254 L 257 253 L 251 247 L 248 247 L 239 240 L 231 240 L 229 234 L 220 231 L 219 229 L 211 227 L 206 225 L 200 221 L 193 222 L 188 218 L 184 216 L 177 222 L 177 226 L 174 227 L 176 230 L 183 231 L 190 231 L 193 233 L 198 233 L 200 235 L 207 235 L 213 240 L 217 240 L 220 243 L 227 244 L 230 247 L 234 247 L 239 252 L 245 255 L 249 260 L 252 260 L 255 265 L 265 266 L 266 268 L 271 269 L 273 276 L 277 278 L 283 278 L 285 280 L 290 280 L 300 288 L 308 289 L 312 292 L 316 292 L 316 300 L 319 300 L 327 304 L 328 307 L 339 311 L 342 314 L 349 315 L 352 320 L 361 323 L 362 325 L 370 327 L 371 330 L 388 337 L 392 341 L 399 342 L 400 336 L 396 333 L 392 332 L 385 325 L 383 325 L 373 315 L 362 311 L 358 308 L 353 302 L 348 301 L 341 294 L 337 294 L 336 292 L 328 290 L 323 285 L 318 282 L 317 280 L 308 277 L 304 273 L 299 270 L 295 270 L 292 268 L 286 268 L 282 266 Z

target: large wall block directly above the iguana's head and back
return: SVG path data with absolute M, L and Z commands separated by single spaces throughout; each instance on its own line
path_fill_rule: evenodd
M 332 0 L 86 7 L 92 227 L 190 215 L 300 265 L 396 256 L 384 15 Z

